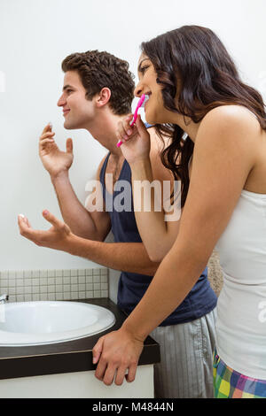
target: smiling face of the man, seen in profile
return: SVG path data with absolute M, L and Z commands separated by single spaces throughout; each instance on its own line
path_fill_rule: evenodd
M 67 71 L 64 78 L 63 94 L 58 105 L 65 118 L 64 127 L 86 128 L 95 117 L 94 100 L 87 100 L 86 89 L 76 71 Z

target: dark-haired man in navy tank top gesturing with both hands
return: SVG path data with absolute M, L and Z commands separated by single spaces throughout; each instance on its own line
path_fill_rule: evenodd
M 47 125 L 40 137 L 40 157 L 43 166 L 51 175 L 51 182 L 58 196 L 60 211 L 65 223 L 56 219 L 50 212 L 43 211 L 44 218 L 51 222 L 50 230 L 34 230 L 26 218 L 19 218 L 20 234 L 37 245 L 64 250 L 76 256 L 89 258 L 100 265 L 120 270 L 118 306 L 130 313 L 144 296 L 145 290 L 159 266 L 158 263 L 150 260 L 140 239 L 133 204 L 131 204 L 129 211 L 118 212 L 115 209 L 109 209 L 109 211 L 106 209 L 107 206 L 113 207 L 114 199 L 118 195 L 115 187 L 118 180 L 131 184 L 129 164 L 116 146 L 116 130 L 118 121 L 131 112 L 134 82 L 129 73 L 129 65 L 125 61 L 106 52 L 98 52 L 98 50 L 70 55 L 63 61 L 62 69 L 65 72 L 65 79 L 58 105 L 64 113 L 64 127 L 67 129 L 87 129 L 98 143 L 109 150 L 106 158 L 98 166 L 97 173 L 97 179 L 104 192 L 102 193 L 96 187 L 92 194 L 93 198 L 97 200 L 103 198 L 104 210 L 88 212 L 79 202 L 68 178 L 68 170 L 73 162 L 72 140 L 67 139 L 66 152 L 59 150 L 54 142 L 51 126 Z M 162 181 L 173 182 L 171 173 L 160 162 L 160 140 L 155 135 L 153 128 L 149 131 L 152 139 L 150 157 L 153 166 L 153 179 L 160 181 L 160 183 Z M 107 181 L 110 178 L 108 173 L 113 174 L 113 181 Z M 115 243 L 105 243 L 106 235 L 111 228 Z M 199 320 L 197 334 L 193 331 L 190 332 L 191 338 L 186 341 L 187 344 L 183 344 L 182 353 L 178 350 L 178 344 L 181 344 L 182 340 L 177 336 L 176 350 L 171 351 L 171 345 L 166 341 L 164 335 L 163 327 L 179 327 L 177 324 L 183 322 L 185 322 L 184 326 L 188 326 L 190 321 L 196 320 L 197 316 L 195 316 L 191 304 L 194 304 L 193 301 L 197 304 L 197 297 L 206 299 L 207 309 L 204 312 L 201 311 L 203 315 L 213 311 L 216 299 L 210 293 L 206 274 L 201 276 L 199 284 L 195 285 L 188 297 L 189 299 L 184 301 L 183 305 L 180 305 L 168 319 L 162 322 L 160 335 L 156 338 L 156 335 L 152 334 L 154 339 L 160 343 L 161 351 L 161 363 L 155 366 L 156 397 L 182 397 L 178 391 L 171 390 L 173 383 L 170 382 L 170 367 L 176 366 L 175 360 L 179 360 L 178 382 L 180 385 L 193 384 L 194 386 L 195 380 L 199 380 L 199 389 L 203 390 L 203 393 L 197 392 L 195 395 L 200 395 L 200 397 L 209 395 L 207 390 L 212 389 L 211 374 L 208 374 L 207 380 L 204 380 L 201 374 L 206 372 L 204 368 L 206 364 L 201 367 L 197 360 L 195 363 L 189 362 L 191 357 L 187 354 L 186 345 L 191 344 L 190 348 L 193 349 L 194 340 L 197 345 L 199 343 L 201 345 L 203 338 L 211 338 L 211 343 L 213 343 L 213 328 L 204 329 L 205 333 L 202 334 Z M 198 336 L 200 336 L 200 341 Z M 171 344 L 174 343 L 171 342 Z M 174 354 L 175 358 L 171 358 L 171 362 L 167 359 L 170 352 Z M 211 352 L 209 358 L 209 372 L 211 373 Z M 187 366 L 190 366 L 191 369 L 194 368 L 194 370 L 188 372 Z M 200 375 L 196 374 L 199 367 Z M 129 377 L 128 381 L 134 380 L 134 377 L 133 379 Z M 193 387 L 193 389 L 195 388 Z

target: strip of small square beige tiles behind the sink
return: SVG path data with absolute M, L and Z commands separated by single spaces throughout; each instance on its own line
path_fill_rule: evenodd
M 108 269 L 20 270 L 0 272 L 0 295 L 10 302 L 108 297 Z

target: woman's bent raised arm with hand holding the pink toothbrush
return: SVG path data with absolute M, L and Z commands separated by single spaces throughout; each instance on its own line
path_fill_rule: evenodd
M 139 135 L 123 143 L 121 151 L 131 168 L 134 212 L 139 234 L 151 260 L 160 262 L 176 240 L 181 195 L 178 195 L 173 204 L 170 195 L 174 188 L 174 176 L 161 163 L 163 143 L 155 129 L 146 130 L 142 121 L 137 119 L 137 130 Z M 145 148 L 145 139 L 149 140 L 147 132 L 150 135 L 150 152 Z

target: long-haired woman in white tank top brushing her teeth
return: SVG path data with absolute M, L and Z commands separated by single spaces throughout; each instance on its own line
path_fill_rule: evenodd
M 163 156 L 183 183 L 183 212 L 176 241 L 171 248 L 169 242 L 170 250 L 145 297 L 119 331 L 100 338 L 94 347 L 96 376 L 110 383 L 117 371 L 115 381 L 121 384 L 129 369 L 127 380 L 134 380 L 145 337 L 182 302 L 216 246 L 224 283 L 217 305 L 215 397 L 265 397 L 266 114 L 262 96 L 240 81 L 222 42 L 207 28 L 181 27 L 143 43 L 142 50 L 135 92 L 150 95 L 145 105 L 147 122 L 172 130 L 172 143 Z M 130 130 L 125 119 L 118 140 L 130 137 L 121 148 L 132 179 L 138 179 L 138 173 L 149 177 L 149 135 L 139 118 Z M 140 228 L 148 245 L 145 227 Z M 162 235 L 167 245 L 166 229 Z

